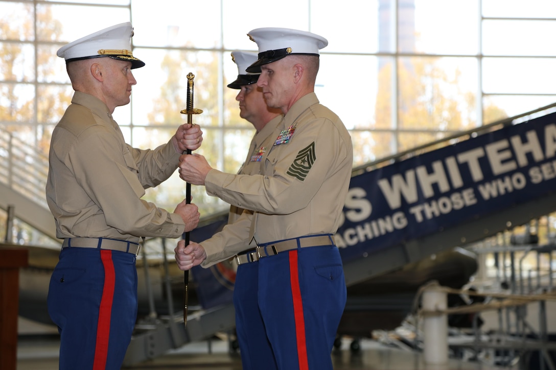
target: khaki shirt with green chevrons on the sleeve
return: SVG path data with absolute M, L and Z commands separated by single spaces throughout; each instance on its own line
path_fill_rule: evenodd
M 279 137 L 285 141 L 290 134 L 289 141 L 280 143 Z M 344 124 L 310 93 L 290 108 L 272 137 L 275 142 L 262 158 L 260 174 L 216 169 L 207 174 L 207 194 L 254 213 L 242 213 L 241 218 L 251 221 L 249 229 L 237 228 L 236 239 L 242 242 L 225 249 L 203 245 L 203 267 L 243 251 L 245 243 L 336 233 L 353 166 L 353 146 Z

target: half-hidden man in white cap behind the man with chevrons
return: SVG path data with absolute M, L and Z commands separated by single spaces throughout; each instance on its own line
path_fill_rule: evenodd
M 238 74 L 235 81 L 227 86 L 239 89 L 236 101 L 239 102 L 240 117 L 249 121 L 256 130 L 247 150 L 245 161 L 237 173 L 257 175 L 262 172 L 265 163 L 263 158 L 266 152 L 270 151 L 274 144 L 275 132 L 282 120 L 282 113 L 280 109 L 269 108 L 266 105 L 262 89 L 256 85 L 259 73 L 245 71 L 257 60 L 257 54 L 245 51 L 233 51 L 231 54 L 232 61 L 237 65 Z M 260 356 L 274 358 L 271 348 L 265 342 L 261 342 L 259 337 L 250 336 L 249 321 L 254 315 L 259 315 L 258 307 L 244 304 L 252 297 L 252 292 L 257 291 L 257 266 L 256 263 L 242 263 L 249 258 L 248 254 L 252 252 L 252 247 L 244 239 L 238 243 L 237 236 L 241 234 L 242 230 L 249 228 L 252 217 L 252 211 L 231 205 L 228 222 L 224 229 L 210 239 L 199 242 L 199 245 L 206 251 L 210 251 L 211 254 L 228 254 L 232 251 L 237 254 L 230 260 L 229 266 L 221 267 L 229 269 L 237 267 L 236 288 L 234 289 L 234 302 L 237 303 L 235 304 L 236 334 L 239 346 L 242 348 L 240 351 L 242 363 L 246 367 L 247 364 L 257 361 Z M 246 292 L 249 292 L 251 297 L 242 295 Z M 264 345 L 260 346 L 260 344 Z M 263 368 L 266 369 L 266 367 Z

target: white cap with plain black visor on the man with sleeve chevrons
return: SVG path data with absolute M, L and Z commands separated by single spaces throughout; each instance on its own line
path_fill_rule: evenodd
M 262 64 L 275 62 L 290 54 L 319 56 L 319 49 L 328 45 L 327 39 L 322 36 L 291 28 L 256 28 L 247 36 L 259 47 L 259 58 L 247 68 L 248 72 L 260 72 Z

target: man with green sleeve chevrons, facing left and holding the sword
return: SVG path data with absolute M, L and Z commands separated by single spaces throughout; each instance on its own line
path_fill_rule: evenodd
M 181 269 L 209 267 L 249 243 L 245 263 L 256 270 L 256 290 L 237 281 L 234 288 L 236 308 L 250 314 L 242 329 L 255 338 L 240 348 L 249 353 L 244 370 L 332 370 L 330 352 L 346 302 L 334 234 L 353 147 L 340 118 L 314 92 L 319 50 L 327 41 L 289 28 L 258 28 L 249 35 L 259 54 L 247 72 L 261 72 L 257 87 L 267 105 L 284 113 L 272 147 L 261 156 L 260 173 L 223 173 L 197 154 L 182 156 L 180 168 L 185 181 L 253 214 L 235 229 L 237 244 L 220 251 L 180 242 L 176 261 Z

